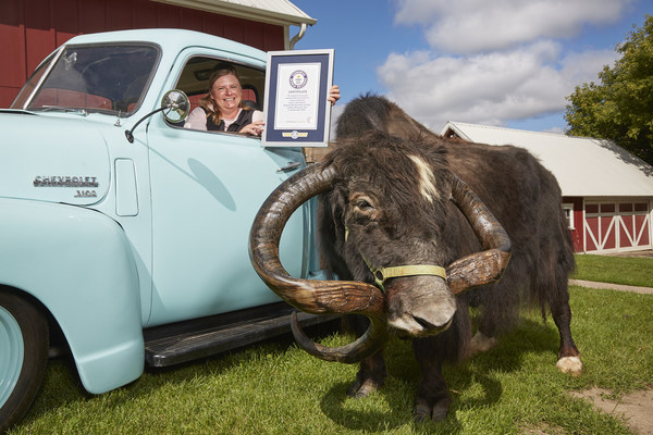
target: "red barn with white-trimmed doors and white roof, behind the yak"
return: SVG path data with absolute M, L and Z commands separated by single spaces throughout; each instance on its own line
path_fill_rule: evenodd
M 577 252 L 653 247 L 653 166 L 609 140 L 449 122 L 442 135 L 526 148 L 551 171 Z

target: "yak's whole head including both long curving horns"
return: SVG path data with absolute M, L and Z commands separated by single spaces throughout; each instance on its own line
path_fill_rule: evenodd
M 287 275 L 279 261 L 283 225 L 303 202 L 323 194 L 322 252 L 340 278 Z M 452 256 L 456 204 L 485 249 Z M 452 225 L 454 229 L 452 229 Z M 288 303 L 311 313 L 359 313 L 370 327 L 355 343 L 325 348 L 293 323 L 297 343 L 319 358 L 356 362 L 379 350 L 387 332 L 420 337 L 446 330 L 455 295 L 498 278 L 509 239 L 488 208 L 452 174 L 442 148 L 414 146 L 373 132 L 347 139 L 326 160 L 282 184 L 262 206 L 250 235 L 261 278 Z

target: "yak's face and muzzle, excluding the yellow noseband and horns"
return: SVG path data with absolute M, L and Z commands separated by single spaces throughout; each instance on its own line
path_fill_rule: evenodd
M 335 249 L 356 281 L 374 283 L 373 271 L 381 268 L 451 262 L 443 237 L 451 174 L 424 157 L 401 151 L 374 156 L 367 170 L 342 170 L 354 175 L 337 181 L 329 196 L 335 227 L 341 228 Z M 456 312 L 442 276 L 391 277 L 383 288 L 387 324 L 403 336 L 438 334 Z

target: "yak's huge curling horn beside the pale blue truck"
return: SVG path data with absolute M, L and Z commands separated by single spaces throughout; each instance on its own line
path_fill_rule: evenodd
M 350 345 L 325 348 L 312 343 L 293 322 L 297 344 L 328 360 L 358 362 L 378 351 L 387 339 L 383 294 L 361 282 L 312 281 L 291 276 L 279 259 L 279 241 L 293 212 L 316 195 L 331 189 L 335 172 L 311 165 L 282 183 L 261 206 L 249 234 L 249 257 L 261 279 L 282 299 L 313 314 L 357 313 L 370 319 L 368 332 Z

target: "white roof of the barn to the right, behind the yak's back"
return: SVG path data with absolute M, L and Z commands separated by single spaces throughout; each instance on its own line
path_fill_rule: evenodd
M 568 197 L 652 197 L 653 166 L 603 139 L 448 122 L 443 136 L 526 148 Z

